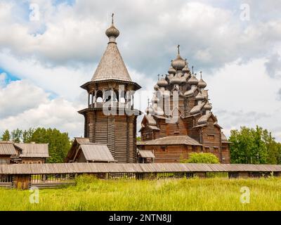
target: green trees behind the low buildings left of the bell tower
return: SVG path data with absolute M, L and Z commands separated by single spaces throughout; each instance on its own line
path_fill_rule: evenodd
M 1 136 L 2 141 L 14 141 L 15 143 L 48 143 L 50 158 L 47 162 L 64 162 L 72 141 L 67 133 L 62 133 L 58 129 L 30 128 L 27 130 L 14 129 L 4 131 Z

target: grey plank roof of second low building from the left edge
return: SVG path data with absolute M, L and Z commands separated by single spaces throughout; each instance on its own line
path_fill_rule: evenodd
M 47 143 L 15 143 L 22 150 L 20 158 L 48 158 Z

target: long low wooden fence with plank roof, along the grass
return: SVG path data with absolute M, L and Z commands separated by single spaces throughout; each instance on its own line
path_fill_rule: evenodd
M 0 187 L 55 188 L 73 185 L 80 174 L 98 179 L 261 178 L 281 176 L 281 165 L 58 163 L 0 165 Z

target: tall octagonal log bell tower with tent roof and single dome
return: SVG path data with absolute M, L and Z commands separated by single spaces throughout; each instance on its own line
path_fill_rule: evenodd
M 106 143 L 117 162 L 137 162 L 136 119 L 141 112 L 133 109 L 133 91 L 141 86 L 132 82 L 117 48 L 119 30 L 112 25 L 105 34 L 107 48 L 90 82 L 82 85 L 89 94 L 84 115 L 84 136 L 93 143 Z

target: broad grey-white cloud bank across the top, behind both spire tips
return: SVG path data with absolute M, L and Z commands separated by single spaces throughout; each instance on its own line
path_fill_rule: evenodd
M 43 64 L 97 63 L 107 41 L 104 32 L 110 25 L 111 11 L 116 14 L 115 23 L 121 31 L 119 47 L 127 64 L 145 73 L 166 71 L 169 58 L 176 55 L 176 44 L 182 45 L 182 55 L 190 62 L 218 68 L 237 58 L 249 60 L 269 54 L 281 37 L 280 18 L 251 20 L 245 25 L 236 13 L 240 11 L 239 3 L 220 8 L 209 1 L 112 4 L 78 0 L 73 6 L 30 2 L 39 4 L 44 29 L 40 27 L 34 35 L 35 31 L 30 32 L 34 30 L 33 22 L 15 22 L 11 12 L 19 6 L 3 4 L 5 13 L 0 25 L 6 32 L 0 34 L 0 48 L 11 49 L 16 56 L 34 56 Z M 259 5 L 253 4 L 253 8 Z

